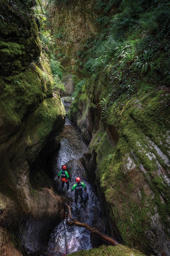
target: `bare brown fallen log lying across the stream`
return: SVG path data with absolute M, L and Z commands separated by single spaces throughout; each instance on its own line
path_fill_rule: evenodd
M 83 228 L 87 228 L 92 234 L 98 236 L 100 239 L 108 242 L 109 244 L 113 245 L 113 246 L 116 246 L 118 245 L 119 243 L 117 241 L 115 241 L 111 236 L 108 236 L 102 232 L 100 232 L 97 228 L 92 228 L 90 227 L 88 224 L 86 223 L 81 223 L 75 219 L 72 218 L 72 215 L 71 215 L 71 209 L 70 209 L 70 206 L 68 204 L 65 203 L 65 205 L 68 207 L 69 209 L 69 217 L 72 221 L 67 221 L 68 224 L 70 224 L 71 226 L 73 225 L 77 225 L 79 227 L 83 227 Z

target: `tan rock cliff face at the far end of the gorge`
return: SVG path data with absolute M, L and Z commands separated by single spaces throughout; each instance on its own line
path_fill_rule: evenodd
M 47 25 L 55 38 L 55 53 L 69 70 L 75 63 L 77 52 L 81 50 L 87 38 L 94 37 L 98 31 L 95 19 L 98 13 L 95 1 L 62 1 L 47 6 Z

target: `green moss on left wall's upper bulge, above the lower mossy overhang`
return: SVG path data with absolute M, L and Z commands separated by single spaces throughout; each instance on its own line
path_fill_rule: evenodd
M 18 125 L 27 111 L 36 109 L 43 99 L 52 96 L 48 75 L 34 63 L 25 72 L 8 79 L 3 77 L 3 81 L 0 110 L 5 113 L 7 119 L 17 122 Z

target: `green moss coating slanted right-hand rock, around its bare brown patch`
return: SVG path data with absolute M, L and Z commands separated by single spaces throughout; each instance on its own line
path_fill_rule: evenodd
M 123 221 L 123 215 L 120 210 L 117 211 L 112 208 L 112 211 L 114 212 L 114 219 L 117 216 L 117 214 L 120 214 L 121 219 L 118 221 L 118 227 L 122 234 L 124 242 L 128 246 L 135 246 L 138 248 L 138 244 L 140 244 L 140 241 L 144 241 L 143 244 L 140 244 L 140 250 L 147 250 L 145 244 L 147 244 L 146 238 L 145 238 L 145 229 L 149 229 L 149 213 L 152 212 L 154 214 L 154 207 L 157 205 L 157 210 L 162 217 L 162 221 L 165 224 L 165 226 L 168 226 L 167 222 L 167 215 L 169 215 L 169 203 L 170 203 L 170 197 L 169 194 L 169 186 L 164 184 L 163 178 L 161 175 L 157 175 L 158 171 L 158 164 L 161 163 L 162 166 L 167 168 L 164 160 L 158 155 L 158 151 L 156 150 L 156 147 L 153 147 L 153 143 L 150 142 L 150 140 L 154 141 L 156 145 L 158 145 L 160 148 L 164 148 L 164 152 L 167 154 L 167 151 L 165 150 L 165 147 L 162 147 L 161 140 L 164 140 L 165 132 L 167 131 L 166 123 L 163 123 L 163 126 L 159 125 L 156 120 L 159 120 L 159 116 L 164 116 L 166 119 L 169 119 L 168 109 L 165 108 L 165 105 L 161 105 L 161 95 L 165 95 L 165 92 L 158 91 L 154 92 L 152 96 L 146 96 L 141 98 L 141 101 L 139 100 L 136 104 L 135 101 L 132 99 L 130 101 L 127 101 L 125 104 L 123 104 L 123 108 L 119 108 L 119 104 L 116 102 L 107 110 L 108 114 L 108 124 L 109 125 L 115 125 L 118 129 L 119 133 L 119 141 L 116 147 L 115 155 L 113 156 L 113 160 L 110 163 L 110 166 L 107 166 L 107 169 L 111 170 L 111 173 L 107 175 L 104 171 L 105 179 L 103 180 L 103 176 L 100 176 L 101 179 L 101 186 L 103 187 L 105 191 L 106 201 L 108 204 L 110 204 L 111 196 L 114 196 L 116 191 L 116 197 L 115 201 L 119 201 L 119 196 L 122 193 L 122 190 L 118 189 L 118 187 L 121 188 L 121 183 L 123 186 L 123 180 L 127 182 L 128 186 L 126 191 L 126 200 L 128 198 L 131 198 L 131 191 L 133 190 L 133 184 L 130 180 L 128 180 L 128 176 L 123 174 L 122 172 L 122 159 L 123 156 L 130 153 L 131 150 L 133 150 L 133 153 L 135 156 L 137 156 L 138 160 L 142 165 L 145 167 L 146 170 L 148 170 L 148 183 L 151 188 L 151 190 L 154 192 L 155 197 L 152 199 L 152 204 L 148 204 L 149 206 L 146 207 L 147 203 L 143 203 L 144 201 L 140 201 L 141 207 L 133 202 L 125 202 L 124 207 L 122 204 L 122 212 L 125 214 L 125 219 Z M 167 98 L 167 95 L 166 95 Z M 141 104 L 139 102 L 142 102 Z M 124 103 L 124 102 L 123 102 Z M 148 107 L 152 107 L 152 114 L 148 113 Z M 165 109 L 165 110 L 163 110 Z M 154 112 L 156 112 L 154 114 Z M 163 119 L 164 120 L 164 119 Z M 165 125 L 164 125 L 165 124 Z M 165 129 L 166 127 L 166 129 Z M 160 133 L 161 129 L 161 133 Z M 164 134 L 164 136 L 163 136 Z M 159 136 L 159 139 L 158 137 Z M 160 139 L 161 138 L 161 139 Z M 168 147 L 167 147 L 168 149 Z M 156 159 L 155 159 L 156 156 Z M 104 163 L 106 162 L 103 160 Z M 99 167 L 99 170 L 102 168 L 102 165 Z M 106 183 L 106 180 L 110 180 L 110 185 L 108 185 L 108 182 Z M 108 187 L 112 186 L 112 189 L 109 189 L 110 192 L 106 191 L 106 185 Z M 116 186 L 116 187 L 115 187 Z M 159 192 L 158 192 L 159 191 Z M 166 202 L 165 204 L 161 203 L 160 194 L 166 195 Z M 110 196 L 108 196 L 110 195 Z M 132 200 L 132 199 L 131 199 Z M 123 198 L 121 198 L 121 201 L 123 202 Z M 147 199 L 149 202 L 149 198 Z M 134 219 L 132 216 L 135 216 Z M 140 218 L 140 219 L 139 219 Z M 137 221 L 136 221 L 137 220 Z M 127 232 L 128 230 L 128 232 Z M 129 238 L 128 238 L 129 237 Z M 138 240 L 138 238 L 140 239 Z M 132 242 L 133 241 L 133 242 Z

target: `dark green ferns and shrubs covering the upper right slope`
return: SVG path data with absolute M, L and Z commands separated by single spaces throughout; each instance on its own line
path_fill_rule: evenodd
M 109 4 L 103 1 L 97 1 L 96 5 L 98 8 L 103 8 L 103 5 L 109 8 Z M 151 1 L 150 6 L 148 5 L 146 9 L 145 1 L 138 3 L 123 1 L 120 5 L 122 12 L 114 15 L 113 18 L 109 16 L 111 25 L 107 29 L 106 39 L 98 38 L 98 41 L 95 39 L 90 43 L 90 49 L 88 47 L 79 55 L 86 74 L 100 73 L 104 68 L 110 67 L 119 74 L 120 87 L 123 87 L 123 72 L 128 72 L 131 76 L 133 73 L 134 78 L 136 74 L 142 78 L 147 76 L 152 80 L 163 80 L 162 83 L 167 85 L 170 79 L 168 67 L 166 69 L 170 31 L 167 29 L 165 32 L 165 28 L 170 7 L 168 1 L 163 3 L 156 1 L 154 4 Z M 91 50 L 90 56 L 89 50 Z M 159 62 L 160 58 L 165 59 L 166 63 Z M 111 77 L 112 82 L 114 78 L 115 76 Z

